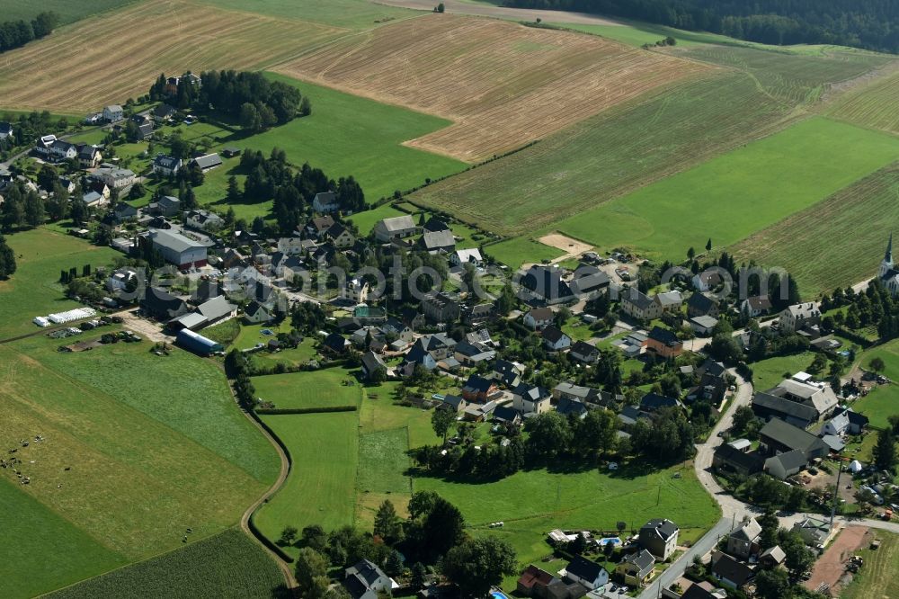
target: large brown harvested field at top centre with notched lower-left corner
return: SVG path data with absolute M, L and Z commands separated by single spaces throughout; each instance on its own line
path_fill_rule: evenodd
M 710 68 L 594 36 L 433 14 L 274 70 L 455 121 L 408 145 L 474 162 Z

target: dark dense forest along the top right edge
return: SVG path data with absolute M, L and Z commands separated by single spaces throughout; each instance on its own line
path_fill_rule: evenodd
M 506 0 L 609 14 L 767 44 L 839 44 L 899 53 L 895 0 Z

